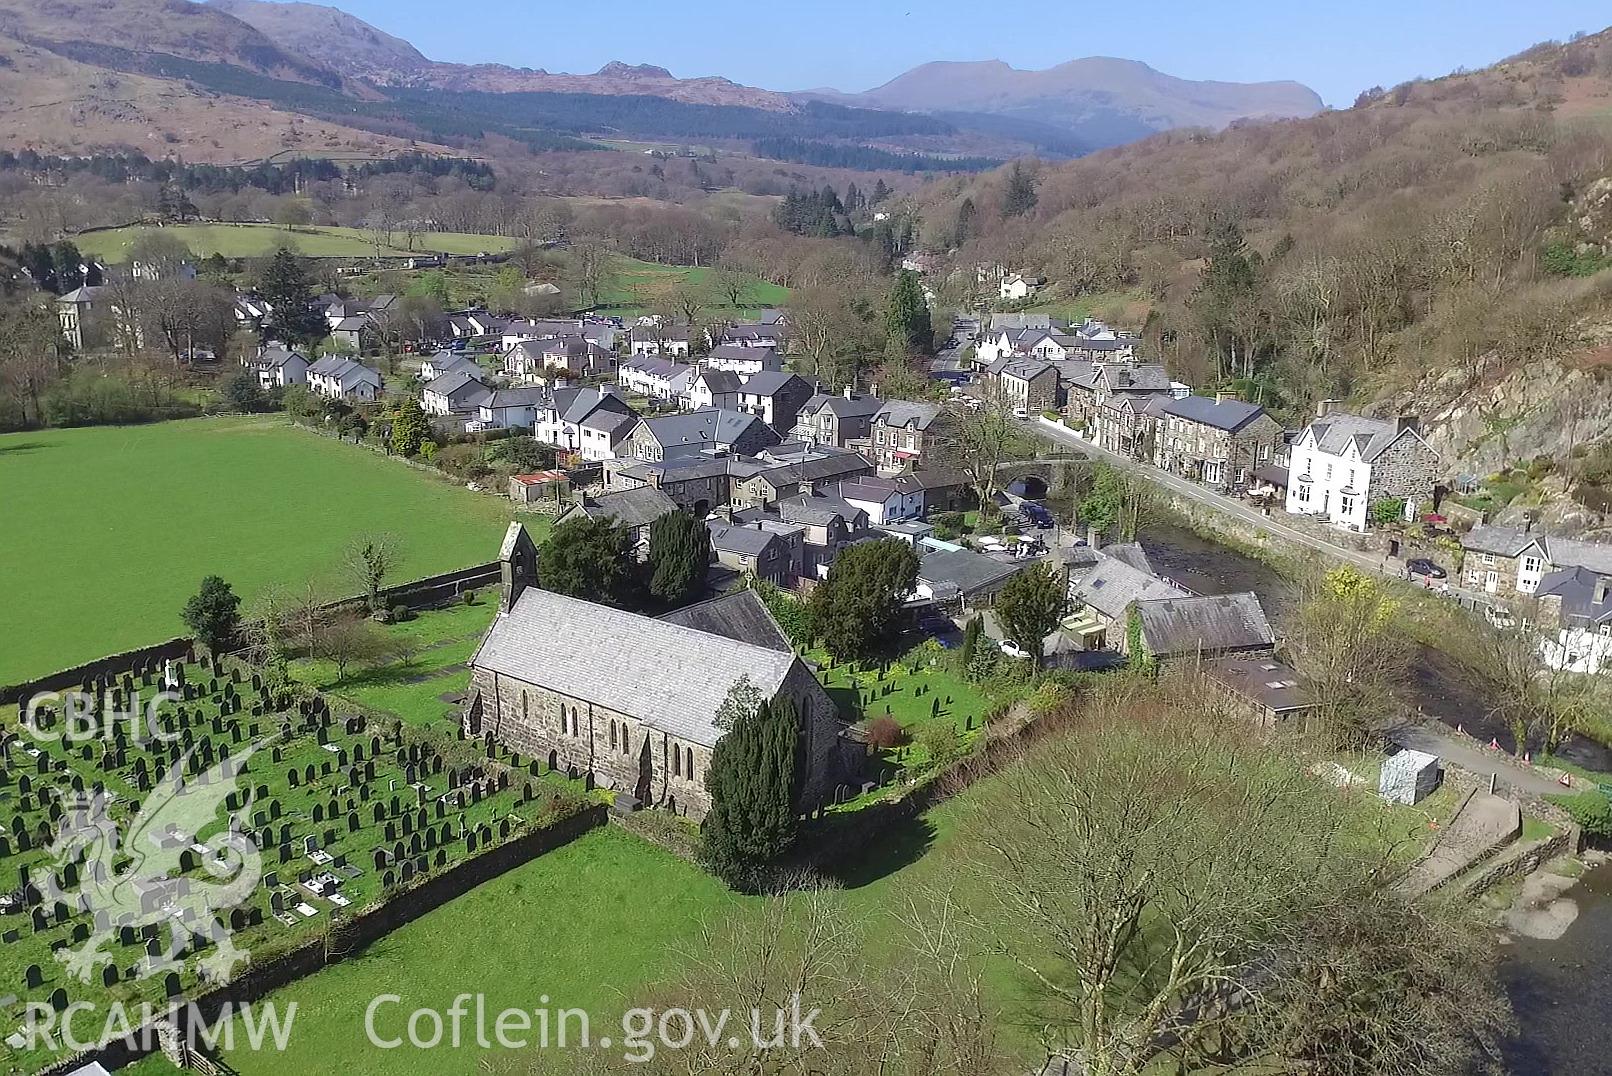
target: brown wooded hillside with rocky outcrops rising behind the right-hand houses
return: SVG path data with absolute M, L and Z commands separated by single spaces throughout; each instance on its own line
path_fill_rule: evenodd
M 1022 168 L 927 187 L 924 242 L 1128 310 L 1194 386 L 1415 410 L 1472 474 L 1544 457 L 1538 503 L 1607 505 L 1612 31 Z

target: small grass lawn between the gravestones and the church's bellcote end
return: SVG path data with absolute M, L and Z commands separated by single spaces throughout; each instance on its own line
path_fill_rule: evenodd
M 495 592 L 487 590 L 477 595 L 474 605 L 426 610 L 414 619 L 388 624 L 385 632 L 411 650 L 403 660 L 348 669 L 347 679 L 337 679 L 335 663 L 305 658 L 292 663 L 292 676 L 364 710 L 451 731 L 456 708 L 442 695 L 463 694 L 471 686 L 471 671 L 464 663 L 496 611 Z

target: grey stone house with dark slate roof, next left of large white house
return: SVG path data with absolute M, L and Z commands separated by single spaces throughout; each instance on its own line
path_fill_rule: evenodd
M 1159 408 L 1153 463 L 1214 489 L 1243 489 L 1272 461 L 1282 424 L 1265 408 L 1190 395 Z

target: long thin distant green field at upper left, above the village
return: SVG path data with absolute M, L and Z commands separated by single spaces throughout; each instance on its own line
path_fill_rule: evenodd
M 123 261 L 129 256 L 134 240 L 153 231 L 177 236 L 198 258 L 213 253 L 221 253 L 226 258 L 255 258 L 271 255 L 280 247 L 290 247 L 316 258 L 361 258 L 374 253 L 369 237 L 359 227 L 308 226 L 287 231 L 279 224 L 169 224 L 166 227 L 135 224 L 87 232 L 76 237 L 74 242 L 77 242 L 79 250 L 93 258 Z M 397 231 L 392 236 L 392 248 L 384 253 L 480 253 L 514 247 L 514 240 L 509 237 L 471 232 L 419 232 L 414 237 L 414 250 L 405 248 L 406 242 L 408 237 Z

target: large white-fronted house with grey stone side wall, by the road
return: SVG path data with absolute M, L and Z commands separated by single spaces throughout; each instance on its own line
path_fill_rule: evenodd
M 1372 505 L 1383 500 L 1402 498 L 1404 518 L 1415 519 L 1443 469 L 1415 418 L 1335 413 L 1328 400 L 1293 444 L 1286 508 L 1365 532 Z

